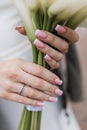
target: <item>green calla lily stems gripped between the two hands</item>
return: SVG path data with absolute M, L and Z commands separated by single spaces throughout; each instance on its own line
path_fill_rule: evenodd
M 35 15 L 33 16 L 33 24 L 35 26 L 35 29 L 44 29 L 44 30 L 49 31 L 51 21 L 47 15 L 47 12 L 44 16 L 43 26 L 42 26 L 42 18 L 39 16 L 39 14 L 41 14 L 41 13 L 37 11 L 35 13 Z M 42 17 L 43 17 L 43 14 L 42 14 Z M 48 21 L 48 23 L 47 23 L 47 21 Z M 29 33 L 28 33 L 28 37 L 30 37 Z M 44 54 L 37 50 L 36 46 L 33 44 L 33 40 L 31 41 L 32 42 L 32 51 L 33 51 L 33 62 L 47 68 L 48 64 L 46 63 L 46 61 L 44 59 Z M 24 107 L 19 130 L 40 130 L 41 115 L 42 115 L 41 111 L 32 112 L 32 111 L 28 111 Z

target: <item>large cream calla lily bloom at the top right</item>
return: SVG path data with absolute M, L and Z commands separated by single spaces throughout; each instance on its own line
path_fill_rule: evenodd
M 53 17 L 55 15 L 61 14 L 62 12 L 65 12 L 65 15 L 71 16 L 85 5 L 87 5 L 87 0 L 56 0 L 49 8 L 48 14 L 50 17 Z

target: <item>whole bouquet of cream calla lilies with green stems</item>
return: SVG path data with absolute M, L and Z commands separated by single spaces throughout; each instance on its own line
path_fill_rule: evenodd
M 75 29 L 87 17 L 87 0 L 14 0 L 32 45 L 33 62 L 48 68 L 33 44 L 36 29 L 54 33 L 57 24 Z M 32 107 L 31 107 L 32 108 Z M 40 130 L 41 110 L 24 107 L 19 130 Z

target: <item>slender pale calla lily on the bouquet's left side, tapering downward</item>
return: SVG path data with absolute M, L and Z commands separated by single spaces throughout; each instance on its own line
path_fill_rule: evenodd
M 35 39 L 35 30 L 32 24 L 31 16 L 28 13 L 24 0 L 14 0 L 14 3 L 21 15 L 22 21 L 24 22 L 27 33 L 29 34 L 29 40 L 33 42 Z

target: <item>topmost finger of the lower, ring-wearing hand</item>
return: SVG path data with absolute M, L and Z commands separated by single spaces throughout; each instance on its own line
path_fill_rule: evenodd
M 33 76 L 37 76 L 45 81 L 48 81 L 52 84 L 62 84 L 62 81 L 59 79 L 59 77 L 49 70 L 45 69 L 44 67 L 40 65 L 36 65 L 34 63 L 27 62 L 25 60 L 19 60 L 20 68 Z

